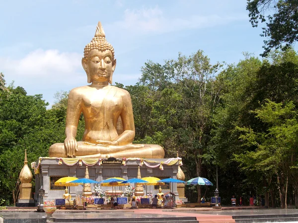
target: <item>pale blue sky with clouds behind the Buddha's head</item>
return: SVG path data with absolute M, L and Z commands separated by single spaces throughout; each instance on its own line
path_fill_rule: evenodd
M 113 81 L 134 85 L 147 60 L 203 50 L 212 63 L 262 53 L 246 0 L 14 0 L 0 3 L 0 72 L 51 105 L 87 84 L 81 58 L 101 21 L 117 59 Z

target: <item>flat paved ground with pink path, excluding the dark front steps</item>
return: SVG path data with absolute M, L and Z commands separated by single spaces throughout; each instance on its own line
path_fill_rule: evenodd
M 176 209 L 138 209 L 138 210 L 57 210 L 54 218 L 59 219 L 119 219 L 119 218 L 166 218 L 166 217 L 196 217 L 201 222 L 234 222 L 232 216 L 255 215 L 293 215 L 297 209 L 265 209 L 258 207 L 223 207 L 222 210 L 212 208 L 176 208 Z M 46 218 L 45 213 L 37 213 L 36 208 L 8 208 L 0 211 L 0 217 L 16 219 Z

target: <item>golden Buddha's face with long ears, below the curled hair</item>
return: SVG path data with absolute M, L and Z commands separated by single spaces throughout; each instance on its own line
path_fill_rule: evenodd
M 88 58 L 82 59 L 82 65 L 90 82 L 112 82 L 112 75 L 116 67 L 116 60 L 112 61 L 112 52 L 109 50 L 91 50 Z

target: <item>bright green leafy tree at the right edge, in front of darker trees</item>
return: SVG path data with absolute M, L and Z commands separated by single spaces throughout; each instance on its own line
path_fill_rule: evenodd
M 265 132 L 256 133 L 251 128 L 243 127 L 239 138 L 243 146 L 256 146 L 254 151 L 246 151 L 235 155 L 243 169 L 255 170 L 267 175 L 268 182 L 276 175 L 280 194 L 281 207 L 287 204 L 286 191 L 288 179 L 294 181 L 297 193 L 297 158 L 298 158 L 298 115 L 292 102 L 274 103 L 268 101 L 261 109 L 254 111 L 256 117 L 268 125 Z M 297 196 L 297 194 L 296 194 Z

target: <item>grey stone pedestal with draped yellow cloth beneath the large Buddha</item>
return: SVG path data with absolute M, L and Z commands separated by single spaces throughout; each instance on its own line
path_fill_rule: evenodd
M 65 187 L 55 186 L 55 181 L 64 176 L 84 178 L 86 169 L 85 164 L 88 164 L 89 178 L 96 181 L 101 181 L 110 177 L 122 177 L 124 179 L 137 178 L 138 167 L 140 167 L 140 163 L 143 164 L 142 167 L 140 167 L 142 177 L 155 176 L 158 178 L 176 178 L 179 159 L 172 158 L 142 160 L 139 158 L 127 158 L 125 162 L 123 161 L 123 159 L 115 159 L 115 162 L 108 162 L 106 161 L 106 159 L 101 159 L 96 162 L 96 159 L 62 159 L 48 157 L 40 158 L 39 162 L 37 162 L 38 165 L 35 166 L 35 200 L 39 201 L 38 190 L 41 186 L 43 186 L 45 190 L 44 199 L 62 198 Z M 162 166 L 158 166 L 158 164 L 160 163 L 162 164 Z M 165 163 L 168 163 L 168 165 L 166 165 Z M 157 167 L 149 167 L 156 166 L 156 164 Z M 161 168 L 163 168 L 163 170 Z M 93 186 L 94 184 L 91 184 L 91 189 L 93 188 Z M 131 186 L 135 187 L 134 184 L 132 184 Z M 172 188 L 170 188 L 171 186 Z M 117 186 L 116 189 L 124 191 L 125 187 L 126 186 Z M 173 183 L 172 185 L 163 185 L 162 187 L 162 191 L 164 193 L 171 191 L 175 194 L 178 194 L 176 183 Z M 154 188 L 154 186 L 152 185 L 144 186 L 145 195 L 146 192 L 147 194 L 157 194 L 158 188 Z M 101 187 L 101 189 L 103 191 L 106 191 L 111 190 L 112 188 L 103 186 Z M 82 190 L 82 186 L 69 187 L 69 193 L 72 195 L 72 197 L 75 197 L 79 194 L 81 195 Z

